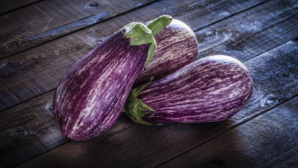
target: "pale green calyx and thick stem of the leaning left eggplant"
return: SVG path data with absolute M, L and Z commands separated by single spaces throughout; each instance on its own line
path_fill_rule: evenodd
M 144 69 L 146 69 L 145 66 L 150 62 L 156 48 L 154 35 L 169 25 L 171 21 L 171 16 L 163 15 L 148 23 L 147 26 L 140 22 L 132 22 L 123 27 L 125 29 L 124 39 L 130 39 L 129 45 L 150 44 Z

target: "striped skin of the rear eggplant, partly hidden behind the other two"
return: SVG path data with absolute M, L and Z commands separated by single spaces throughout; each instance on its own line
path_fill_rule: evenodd
M 145 23 L 146 24 L 146 23 Z M 198 42 L 192 29 L 182 21 L 173 19 L 155 36 L 157 46 L 151 61 L 136 78 L 134 85 L 149 81 L 150 77 L 160 79 L 195 60 Z

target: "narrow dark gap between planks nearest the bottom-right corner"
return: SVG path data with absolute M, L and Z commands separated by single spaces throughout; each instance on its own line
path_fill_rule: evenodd
M 292 97 L 291 97 L 290 99 L 288 99 L 287 101 L 284 101 L 284 102 L 278 104 L 277 106 L 273 106 L 272 108 L 266 109 L 266 110 L 264 110 L 264 112 L 261 112 L 260 114 L 252 114 L 251 116 L 249 116 L 249 117 L 251 117 L 251 118 L 247 117 L 247 118 L 244 119 L 243 121 L 241 121 L 241 122 L 239 122 L 239 123 L 237 123 L 237 124 L 232 125 L 232 126 L 230 127 L 231 129 L 227 129 L 227 130 L 224 131 L 223 133 L 220 133 L 220 134 L 218 134 L 218 135 L 216 135 L 216 136 L 214 136 L 214 137 L 208 139 L 207 141 L 204 141 L 204 142 L 200 143 L 200 144 L 197 145 L 197 146 L 191 147 L 189 150 L 186 150 L 186 151 L 182 152 L 181 154 L 179 154 L 179 155 L 177 155 L 177 156 L 175 156 L 175 157 L 173 157 L 173 158 L 171 158 L 171 159 L 165 161 L 164 163 L 162 163 L 162 164 L 160 164 L 160 165 L 158 165 L 158 166 L 156 166 L 156 167 L 160 167 L 160 166 L 162 166 L 162 165 L 168 163 L 169 161 L 172 161 L 172 160 L 178 158 L 179 156 L 181 156 L 181 155 L 183 155 L 183 154 L 185 154 L 185 153 L 187 153 L 187 152 L 189 152 L 189 151 L 192 151 L 193 149 L 195 149 L 195 148 L 197 148 L 197 147 L 199 147 L 199 146 L 201 146 L 201 145 L 203 145 L 203 144 L 205 144 L 205 143 L 207 143 L 207 142 L 209 142 L 209 141 L 211 141 L 211 140 L 213 140 L 213 139 L 219 137 L 220 135 L 222 135 L 222 134 L 224 134 L 224 133 L 226 133 L 226 132 L 228 132 L 228 131 L 231 131 L 231 130 L 234 129 L 234 128 L 237 128 L 238 126 L 240 126 L 240 125 L 242 125 L 242 124 L 244 124 L 244 123 L 246 123 L 246 122 L 248 122 L 248 121 L 250 121 L 250 120 L 252 120 L 252 119 L 255 119 L 256 117 L 258 117 L 258 116 L 260 116 L 260 115 L 266 113 L 267 111 L 270 111 L 270 110 L 272 110 L 272 109 L 278 108 L 280 105 L 282 105 L 282 104 L 284 104 L 284 103 L 286 103 L 286 102 L 288 102 L 288 101 L 290 101 L 290 100 L 296 98 L 297 96 L 298 96 L 298 93 L 297 93 L 296 95 L 292 96 Z M 68 142 L 67 142 L 67 143 L 68 143 Z M 32 159 L 33 159 L 33 158 L 32 158 Z

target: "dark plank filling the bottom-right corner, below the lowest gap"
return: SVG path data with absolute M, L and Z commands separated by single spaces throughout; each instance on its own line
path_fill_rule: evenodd
M 161 167 L 298 167 L 297 107 L 298 97 Z

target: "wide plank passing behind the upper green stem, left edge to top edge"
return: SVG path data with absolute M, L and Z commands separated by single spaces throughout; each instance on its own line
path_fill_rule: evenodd
M 252 0 L 240 4 L 236 3 L 237 0 L 224 0 L 222 2 L 205 0 L 203 2 L 203 4 L 209 4 L 210 7 L 206 8 L 205 5 L 202 6 L 196 0 L 156 2 L 13 57 L 0 60 L 0 88 L 2 90 L 0 93 L 0 97 L 2 97 L 0 110 L 53 90 L 62 75 L 82 56 L 114 31 L 132 21 L 144 22 L 162 14 L 173 15 L 179 20 L 186 16 L 192 16 L 192 20 L 188 19 L 185 22 L 197 28 L 200 25 L 204 26 L 223 18 L 217 18 L 224 11 L 223 9 L 217 10 L 218 8 L 226 7 L 224 9 L 226 11 L 231 10 L 232 12 L 229 13 L 233 14 L 263 1 Z M 216 11 L 212 11 L 213 7 Z M 228 7 L 233 8 L 229 9 Z M 148 14 L 144 15 L 144 13 Z M 210 17 L 214 17 L 214 19 L 208 19 Z

